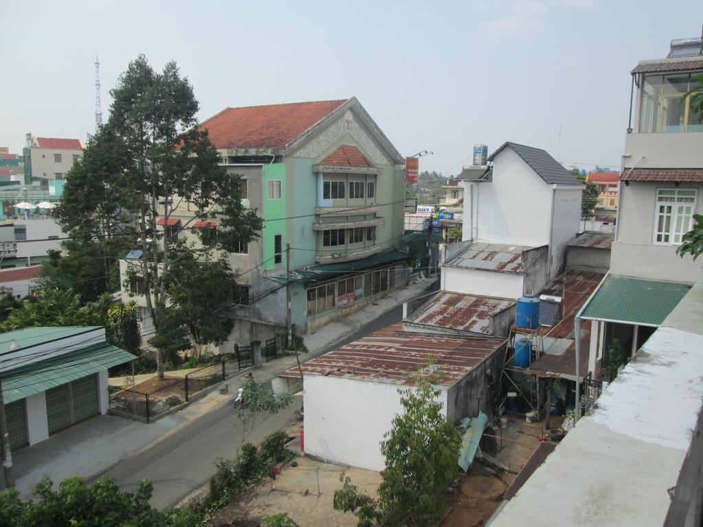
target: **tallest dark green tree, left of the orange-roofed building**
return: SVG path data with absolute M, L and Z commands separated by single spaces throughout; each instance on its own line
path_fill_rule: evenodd
M 163 326 L 177 319 L 167 301 L 174 264 L 186 254 L 233 252 L 240 242 L 257 237 L 262 221 L 255 210 L 243 208 L 239 176 L 219 165 L 221 157 L 207 131 L 198 129 L 198 102 L 175 63 L 159 73 L 139 56 L 110 94 L 108 122 L 86 146 L 84 162 L 67 174 L 60 221 L 76 242 L 120 238 L 129 248 L 141 249 L 127 280 L 138 276 L 143 282 L 148 316 L 163 338 Z M 157 229 L 157 223 L 168 226 L 172 215 L 191 220 L 180 229 Z M 183 237 L 180 230 L 215 217 L 218 232 L 212 242 L 192 240 L 174 256 L 171 249 Z M 162 378 L 158 348 L 156 359 Z

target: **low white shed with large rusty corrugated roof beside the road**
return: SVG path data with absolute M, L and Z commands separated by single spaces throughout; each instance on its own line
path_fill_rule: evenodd
M 307 455 L 338 464 L 382 470 L 380 443 L 402 412 L 399 389 L 411 387 L 434 358 L 442 412 L 451 422 L 491 412 L 491 384 L 500 379 L 503 339 L 402 332 L 394 325 L 302 364 L 304 448 Z M 425 372 L 427 370 L 425 369 Z M 299 384 L 297 368 L 276 388 Z M 480 405 L 479 405 L 480 401 Z

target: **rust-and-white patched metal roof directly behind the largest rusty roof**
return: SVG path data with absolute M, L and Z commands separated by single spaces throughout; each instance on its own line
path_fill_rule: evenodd
M 514 299 L 441 291 L 423 306 L 417 316 L 404 322 L 490 334 L 491 317 L 512 306 L 515 306 Z

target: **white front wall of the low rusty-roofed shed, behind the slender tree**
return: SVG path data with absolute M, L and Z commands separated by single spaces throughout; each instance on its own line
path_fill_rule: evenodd
M 369 470 L 385 467 L 380 442 L 402 410 L 402 386 L 304 375 L 305 453 Z M 444 403 L 446 391 L 439 399 Z

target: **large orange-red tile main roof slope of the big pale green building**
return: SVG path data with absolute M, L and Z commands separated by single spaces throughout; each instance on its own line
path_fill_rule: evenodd
M 227 108 L 199 126 L 215 148 L 282 148 L 347 102 L 273 104 Z

